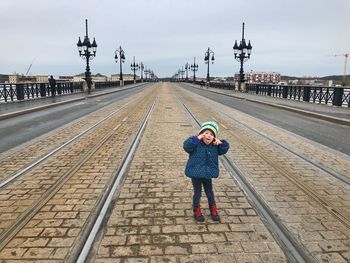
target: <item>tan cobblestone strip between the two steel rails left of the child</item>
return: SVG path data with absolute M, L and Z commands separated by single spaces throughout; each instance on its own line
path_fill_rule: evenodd
M 128 110 L 116 114 L 29 174 L 1 189 L 0 237 L 27 215 L 33 205 L 41 202 L 61 178 L 67 178 L 5 244 L 0 259 L 4 262 L 62 262 L 74 252 L 80 243 L 82 229 L 96 213 L 98 201 L 154 96 L 154 89 L 149 89 L 142 97 L 137 96 L 138 100 L 130 104 Z M 95 119 L 96 116 L 88 118 Z M 107 141 L 99 145 L 104 137 Z

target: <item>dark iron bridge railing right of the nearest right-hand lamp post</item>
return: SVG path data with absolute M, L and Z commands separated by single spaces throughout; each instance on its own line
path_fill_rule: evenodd
M 350 87 L 247 83 L 251 94 L 350 107 Z

